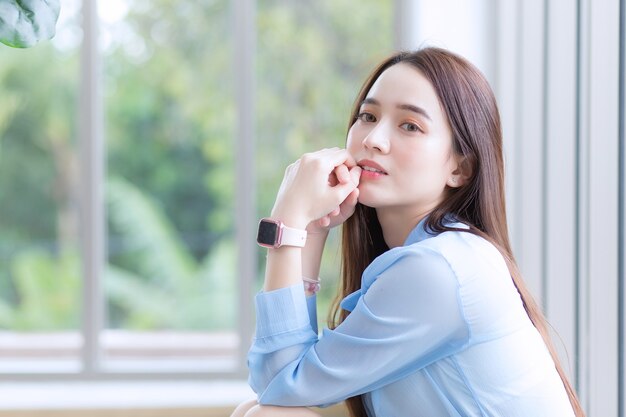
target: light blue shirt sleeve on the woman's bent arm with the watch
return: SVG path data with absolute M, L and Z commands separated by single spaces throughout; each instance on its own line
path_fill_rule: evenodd
M 364 283 L 367 279 L 364 275 Z M 319 338 L 301 286 L 257 295 L 257 333 L 248 366 L 261 404 L 343 401 L 397 381 L 468 343 L 459 283 L 439 253 L 406 251 L 369 279 L 371 285 L 364 285 L 346 320 Z

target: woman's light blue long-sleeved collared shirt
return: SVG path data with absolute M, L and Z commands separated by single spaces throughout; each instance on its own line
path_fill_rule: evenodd
M 302 285 L 256 296 L 248 366 L 258 401 L 324 406 L 364 394 L 369 416 L 574 416 L 499 251 L 424 224 L 368 266 L 341 303 L 350 315 L 321 336 Z

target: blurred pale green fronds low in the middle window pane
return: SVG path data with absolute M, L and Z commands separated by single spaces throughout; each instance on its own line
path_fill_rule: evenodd
M 125 269 L 109 264 L 105 285 L 113 327 L 224 329 L 234 326 L 235 247 L 223 240 L 203 262 L 184 249 L 157 204 L 122 179 L 107 183 L 115 239 L 130 249 Z

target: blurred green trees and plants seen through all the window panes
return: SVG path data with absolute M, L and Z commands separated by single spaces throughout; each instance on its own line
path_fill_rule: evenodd
M 110 28 L 103 60 L 110 327 L 235 326 L 230 13 L 227 0 L 129 0 L 123 22 Z M 259 216 L 271 209 L 283 167 L 344 143 L 357 89 L 389 52 L 391 21 L 390 0 L 258 2 Z M 78 63 L 73 47 L 0 49 L 2 328 L 80 325 Z M 339 271 L 335 234 L 330 243 L 323 309 Z

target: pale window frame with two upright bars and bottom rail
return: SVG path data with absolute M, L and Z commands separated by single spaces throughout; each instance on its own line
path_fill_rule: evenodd
M 99 380 L 99 379 L 206 379 L 238 378 L 247 375 L 246 353 L 253 333 L 252 289 L 257 270 L 255 244 L 255 164 L 254 164 L 254 57 L 256 43 L 256 1 L 231 0 L 234 50 L 233 66 L 238 123 L 236 244 L 238 248 L 237 365 L 232 371 L 116 371 L 103 362 L 102 341 L 105 329 L 103 271 L 106 254 L 106 144 L 103 123 L 102 56 L 99 48 L 98 0 L 82 0 L 83 38 L 80 49 L 80 101 L 78 108 L 80 164 L 80 243 L 82 260 L 82 339 L 80 370 L 77 372 L 3 372 L 4 380 Z

